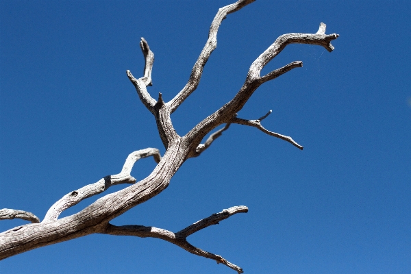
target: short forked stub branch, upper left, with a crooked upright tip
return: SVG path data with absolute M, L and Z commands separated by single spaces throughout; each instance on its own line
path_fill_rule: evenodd
M 154 53 L 151 51 L 145 38 L 141 38 L 140 48 L 145 58 L 144 75 L 139 79 L 136 79 L 130 71 L 127 70 L 126 73 L 127 77 L 129 77 L 130 81 L 136 88 L 138 97 L 140 97 L 142 103 L 148 110 L 150 110 L 151 113 L 154 114 L 153 108 L 157 101 L 155 101 L 155 99 L 149 95 L 149 92 L 147 92 L 147 86 L 152 86 L 151 71 L 153 69 Z

